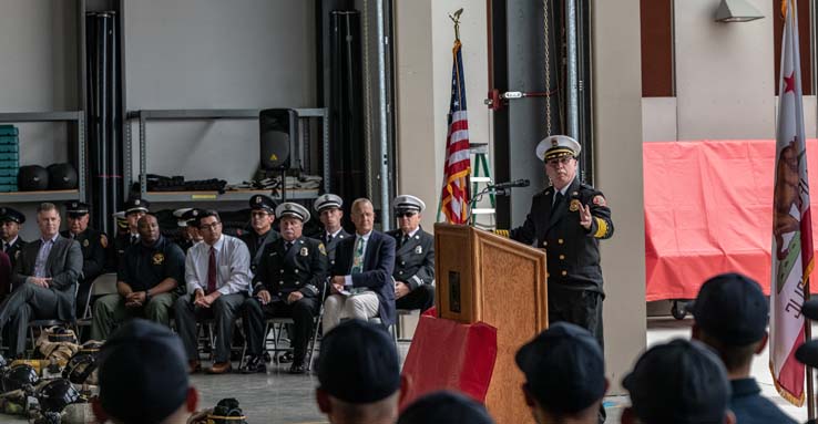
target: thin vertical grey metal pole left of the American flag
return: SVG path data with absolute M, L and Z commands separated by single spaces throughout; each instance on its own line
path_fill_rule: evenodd
M 387 94 L 386 94 L 386 43 L 384 35 L 384 0 L 376 1 L 378 15 L 378 135 L 380 137 L 380 207 L 381 226 L 384 231 L 391 228 L 389 213 L 389 155 L 387 143 Z

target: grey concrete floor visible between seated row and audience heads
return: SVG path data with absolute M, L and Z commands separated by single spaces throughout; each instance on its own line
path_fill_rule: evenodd
M 677 321 L 669 318 L 651 318 L 647 322 L 647 345 L 669 341 L 676 338 L 689 338 L 692 320 Z M 815 327 L 814 334 L 818 331 Z M 409 349 L 408 342 L 399 343 L 401 359 Z M 773 379 L 767 369 L 768 358 L 765 353 L 756 358 L 753 375 L 758 380 L 763 394 L 773 400 L 787 414 L 799 422 L 806 422 L 806 407 L 795 407 L 778 396 Z M 254 375 L 193 375 L 192 382 L 200 391 L 202 407 L 215 405 L 222 397 L 236 397 L 248 417 L 249 423 L 270 424 L 307 424 L 326 423 L 315 403 L 315 387 L 318 380 L 313 374 L 289 375 L 288 364 L 269 364 L 267 374 Z M 622 410 L 628 404 L 626 396 L 609 396 L 605 399 L 607 423 L 618 424 Z M 8 415 L 0 415 L 0 423 L 21 423 Z

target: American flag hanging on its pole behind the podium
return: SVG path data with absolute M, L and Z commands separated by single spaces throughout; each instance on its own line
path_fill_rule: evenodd
M 460 40 L 454 40 L 451 68 L 451 103 L 449 132 L 446 135 L 446 168 L 441 209 L 449 224 L 466 224 L 469 218 L 469 116 L 466 111 L 466 82 Z

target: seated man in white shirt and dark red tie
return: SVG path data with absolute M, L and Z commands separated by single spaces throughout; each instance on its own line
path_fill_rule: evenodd
M 176 328 L 187 354 L 190 372 L 201 369 L 196 349 L 196 321 L 215 320 L 216 345 L 209 374 L 229 372 L 233 325 L 250 290 L 250 256 L 247 245 L 222 234 L 215 210 L 203 210 L 196 223 L 203 240 L 187 250 L 187 294 L 176 301 Z

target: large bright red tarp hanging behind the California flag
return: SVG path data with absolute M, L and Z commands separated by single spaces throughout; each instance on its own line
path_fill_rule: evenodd
M 769 293 L 775 156 L 774 139 L 643 144 L 647 301 L 693 299 L 727 271 Z M 818 187 L 818 141 L 807 141 L 807 159 Z

